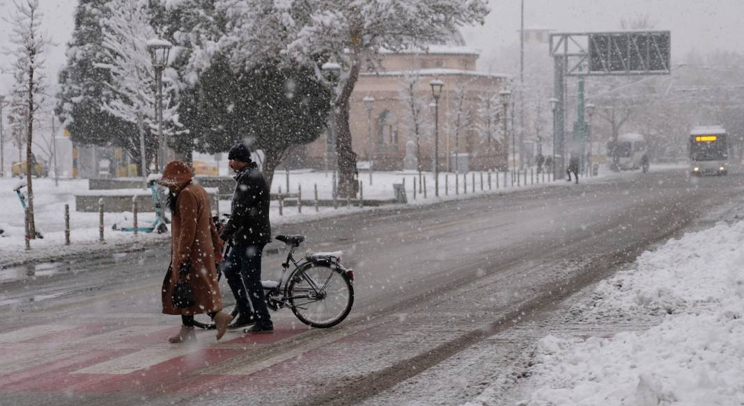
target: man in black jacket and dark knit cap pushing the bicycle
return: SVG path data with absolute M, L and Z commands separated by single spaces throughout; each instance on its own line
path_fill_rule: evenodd
M 239 143 L 228 154 L 228 165 L 236 172 L 231 217 L 219 238 L 231 242 L 222 272 L 237 301 L 240 315 L 231 328 L 246 328 L 246 333 L 272 333 L 274 325 L 261 286 L 263 246 L 272 240 L 269 223 L 269 185 L 251 152 Z M 248 303 L 250 301 L 250 304 Z M 251 310 L 251 305 L 253 310 Z

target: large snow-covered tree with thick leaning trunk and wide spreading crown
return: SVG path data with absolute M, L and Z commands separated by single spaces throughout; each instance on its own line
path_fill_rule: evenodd
M 322 65 L 336 62 L 336 151 L 339 193 L 356 191 L 356 154 L 351 145 L 349 101 L 365 63 L 379 63 L 382 49 L 400 50 L 437 42 L 464 24 L 483 24 L 486 0 L 219 0 L 235 17 L 221 41 L 242 58 L 267 55 L 312 65 L 323 82 Z

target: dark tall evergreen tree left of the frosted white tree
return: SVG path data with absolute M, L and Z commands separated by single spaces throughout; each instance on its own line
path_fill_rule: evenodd
M 111 98 L 106 85 L 111 82 L 111 72 L 100 68 L 111 62 L 103 52 L 101 31 L 101 22 L 108 15 L 107 2 L 80 0 L 75 10 L 75 28 L 68 42 L 67 65 L 60 73 L 55 113 L 74 143 L 116 145 L 126 148 L 130 156 L 139 157 L 138 148 L 131 148 L 127 142 L 127 134 L 137 131 L 136 125 L 101 110 Z

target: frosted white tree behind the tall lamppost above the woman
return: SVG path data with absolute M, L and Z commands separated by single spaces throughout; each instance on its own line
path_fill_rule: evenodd
M 147 42 L 157 33 L 150 25 L 147 10 L 138 1 L 112 0 L 107 6 L 110 14 L 103 19 L 103 53 L 110 63 L 97 67 L 111 71 L 112 96 L 103 104 L 103 110 L 138 125 L 140 133 L 155 134 L 158 128 L 154 107 L 157 89 Z M 163 134 L 173 137 L 182 132 L 176 104 L 178 75 L 173 68 L 164 69 L 162 84 Z M 129 148 L 138 148 L 141 135 L 131 134 Z M 157 150 L 157 142 L 150 145 Z M 150 157 L 155 151 L 146 155 Z

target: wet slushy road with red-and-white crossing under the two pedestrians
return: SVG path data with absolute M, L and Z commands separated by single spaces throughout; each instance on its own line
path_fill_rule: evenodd
M 274 335 L 228 333 L 219 344 L 209 332 L 193 347 L 165 344 L 179 324 L 158 315 L 166 247 L 7 269 L 0 404 L 458 405 L 542 334 L 510 339 L 515 323 L 539 320 L 648 246 L 715 220 L 743 183 L 737 174 L 623 174 L 282 226 L 275 234 L 307 235 L 307 248 L 346 252 L 356 269 L 350 318 L 307 330 L 283 310 Z M 279 262 L 267 258 L 266 278 Z M 484 341 L 502 345 L 479 353 Z

